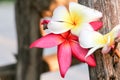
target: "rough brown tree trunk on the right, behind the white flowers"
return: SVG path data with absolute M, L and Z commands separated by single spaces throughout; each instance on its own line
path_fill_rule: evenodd
M 104 27 L 101 30 L 103 34 L 120 23 L 120 0 L 88 0 L 85 2 L 88 6 L 103 13 Z M 117 48 L 120 49 L 119 45 Z M 113 51 L 102 54 L 101 50 L 97 50 L 94 55 L 97 66 L 89 67 L 90 80 L 120 80 L 120 60 Z

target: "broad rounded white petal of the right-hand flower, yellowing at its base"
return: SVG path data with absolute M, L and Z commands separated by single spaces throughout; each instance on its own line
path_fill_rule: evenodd
M 82 30 L 80 32 L 79 42 L 83 48 L 91 48 L 105 44 L 102 34 L 90 30 Z

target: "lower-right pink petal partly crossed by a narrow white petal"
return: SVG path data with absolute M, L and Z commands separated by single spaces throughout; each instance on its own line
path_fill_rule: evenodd
M 82 48 L 76 41 L 71 41 L 70 45 L 74 57 L 76 57 L 79 61 L 86 62 L 89 66 L 96 66 L 96 62 L 93 55 L 85 59 L 85 55 L 88 53 L 87 49 Z

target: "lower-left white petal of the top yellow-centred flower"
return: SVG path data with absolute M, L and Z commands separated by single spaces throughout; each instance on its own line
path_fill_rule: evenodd
M 48 29 L 55 34 L 66 32 L 70 30 L 72 27 L 73 26 L 71 24 L 65 22 L 50 21 L 48 23 Z

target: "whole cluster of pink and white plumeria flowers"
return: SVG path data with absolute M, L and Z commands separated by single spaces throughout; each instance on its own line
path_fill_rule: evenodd
M 50 20 L 43 21 L 51 33 L 34 41 L 30 48 L 57 46 L 62 77 L 71 65 L 72 56 L 89 66 L 96 66 L 92 53 L 102 47 L 102 53 L 107 53 L 114 45 L 114 39 L 120 36 L 120 25 L 105 35 L 97 32 L 102 27 L 101 17 L 101 12 L 75 2 L 70 2 L 68 8 L 59 6 Z

